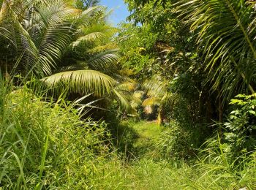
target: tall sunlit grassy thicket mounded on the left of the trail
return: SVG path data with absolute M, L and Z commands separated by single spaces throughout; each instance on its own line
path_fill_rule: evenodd
M 88 188 L 96 165 L 113 156 L 105 123 L 82 120 L 63 99 L 44 102 L 2 80 L 0 87 L 0 186 Z

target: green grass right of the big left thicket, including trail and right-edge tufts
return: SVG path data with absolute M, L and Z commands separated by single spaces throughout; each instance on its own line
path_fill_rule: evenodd
M 187 134 L 180 132 L 178 123 L 159 129 L 154 123 L 140 121 L 123 122 L 127 130 L 137 132 L 130 151 L 133 158 L 119 181 L 125 181 L 118 189 L 255 189 L 255 152 L 244 153 L 236 160 L 225 150 L 218 135 L 195 150 L 194 159 L 179 159 L 176 154 L 190 153 L 182 148 L 192 148 Z M 130 129 L 132 128 L 132 129 Z M 122 137 L 129 132 L 123 131 Z M 185 136 L 184 136 L 185 135 Z M 129 136 L 128 136 L 129 137 Z M 196 136 L 195 136 L 196 138 Z M 127 138 L 124 138 L 127 140 Z M 131 143 L 130 141 L 127 141 Z M 137 156 L 137 157 L 136 157 Z

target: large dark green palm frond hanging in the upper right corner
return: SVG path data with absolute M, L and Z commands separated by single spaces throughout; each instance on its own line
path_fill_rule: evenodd
M 183 0 L 176 6 L 197 34 L 213 88 L 220 86 L 227 98 L 235 90 L 243 91 L 239 83 L 248 89 L 256 72 L 252 66 L 256 58 L 254 5 L 245 0 Z

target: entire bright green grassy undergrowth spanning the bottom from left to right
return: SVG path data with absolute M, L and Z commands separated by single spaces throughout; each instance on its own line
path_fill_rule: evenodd
M 0 88 L 0 189 L 256 188 L 255 152 L 237 164 L 218 136 L 192 161 L 171 159 L 177 142 L 189 142 L 174 121 L 110 129 L 83 118 L 79 104 L 3 80 Z

